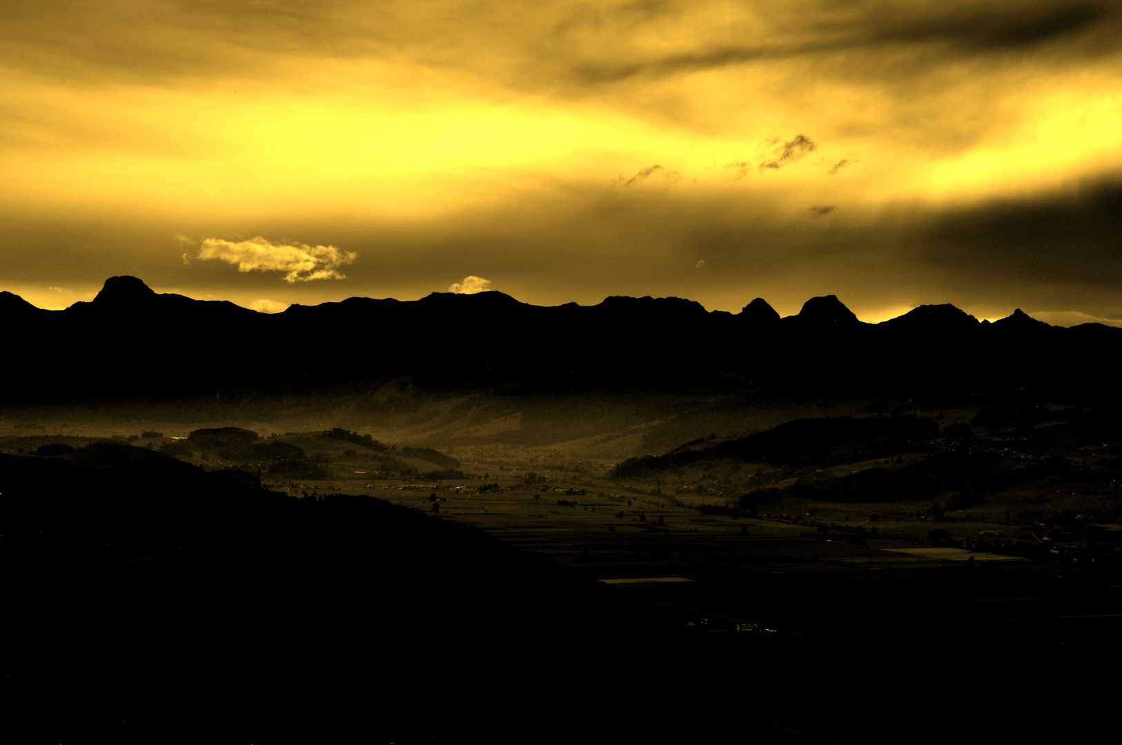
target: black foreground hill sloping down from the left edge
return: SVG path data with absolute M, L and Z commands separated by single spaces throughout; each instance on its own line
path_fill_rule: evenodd
M 370 497 L 127 445 L 0 459 L 9 742 L 509 734 L 526 687 L 636 623 L 595 580 Z

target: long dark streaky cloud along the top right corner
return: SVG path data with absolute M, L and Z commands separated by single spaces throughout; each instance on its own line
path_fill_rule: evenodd
M 1050 50 L 1070 56 L 1116 52 L 1109 39 L 1116 34 L 1119 12 L 1103 0 L 1022 0 L 967 7 L 955 2 L 886 6 L 811 0 L 790 3 L 790 8 L 783 3 L 744 3 L 739 12 L 723 8 L 720 24 L 707 31 L 672 35 L 678 44 L 665 45 L 664 54 L 651 54 L 650 47 L 643 45 L 643 31 L 670 35 L 671 24 L 677 20 L 682 25 L 682 19 L 674 16 L 693 20 L 716 11 L 716 3 L 693 4 L 690 11 L 668 8 L 662 18 L 651 19 L 642 29 L 624 31 L 617 26 L 617 43 L 601 47 L 610 49 L 610 54 L 589 52 L 580 37 L 571 35 L 567 39 L 571 47 L 585 47 L 583 58 L 570 62 L 574 74 L 586 83 L 603 84 L 831 56 L 849 57 L 846 67 L 857 68 L 861 76 L 894 77 L 900 74 L 898 68 L 879 63 L 900 49 L 912 56 L 935 52 L 934 56 L 925 56 L 923 63 L 934 61 L 939 65 L 982 55 L 1023 54 L 1047 45 L 1054 46 Z M 600 34 L 608 33 L 605 29 Z M 582 34 L 596 31 L 586 28 Z M 752 42 L 744 44 L 744 38 Z M 628 39 L 635 40 L 628 45 Z

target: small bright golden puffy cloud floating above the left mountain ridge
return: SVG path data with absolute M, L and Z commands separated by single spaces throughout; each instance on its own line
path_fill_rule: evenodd
M 187 254 L 183 258 L 184 263 L 190 261 Z M 353 263 L 358 254 L 334 246 L 270 243 L 258 236 L 237 243 L 221 238 L 208 238 L 194 258 L 237 264 L 238 272 L 285 272 L 285 282 L 293 283 L 344 279 L 346 275 L 339 272 L 339 267 Z

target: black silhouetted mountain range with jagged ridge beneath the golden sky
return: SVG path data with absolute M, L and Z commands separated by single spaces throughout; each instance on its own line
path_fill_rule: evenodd
M 1067 395 L 1113 385 L 1122 329 L 978 321 L 922 305 L 859 321 L 836 296 L 781 318 L 679 297 L 537 306 L 500 292 L 417 301 L 350 297 L 265 314 L 226 301 L 105 280 L 91 302 L 38 309 L 0 292 L 7 358 L 0 405 L 240 401 L 362 395 L 407 379 L 426 390 L 931 395 L 1032 387 Z

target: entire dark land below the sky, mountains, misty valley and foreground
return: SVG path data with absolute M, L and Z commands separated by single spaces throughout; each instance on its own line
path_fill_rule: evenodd
M 0 319 L 11 742 L 1113 720 L 1122 329 L 128 276 Z

